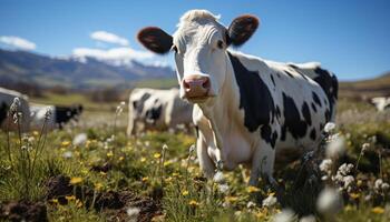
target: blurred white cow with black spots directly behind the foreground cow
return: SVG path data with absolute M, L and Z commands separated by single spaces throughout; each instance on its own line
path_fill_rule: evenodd
M 135 134 L 139 123 L 145 130 L 166 130 L 178 124 L 189 124 L 192 110 L 193 105 L 179 98 L 177 89 L 135 89 L 129 98 L 127 134 Z

